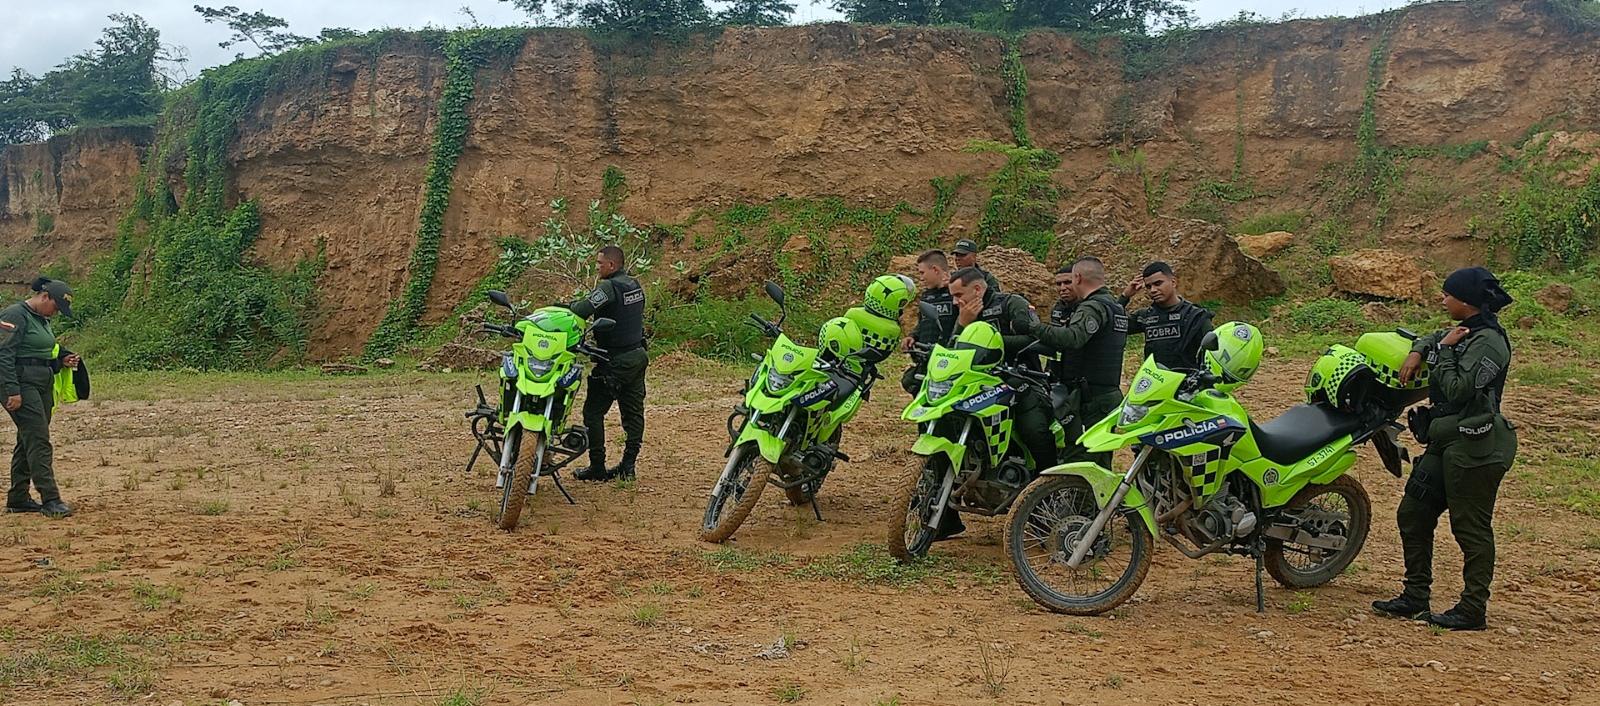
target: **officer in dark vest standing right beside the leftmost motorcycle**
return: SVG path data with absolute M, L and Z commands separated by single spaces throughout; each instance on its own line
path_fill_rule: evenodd
M 606 245 L 595 255 L 600 282 L 589 296 L 570 309 L 584 319 L 606 317 L 616 325 L 595 331 L 595 344 L 610 360 L 597 362 L 589 375 L 584 397 L 584 426 L 589 427 L 589 467 L 578 471 L 579 480 L 632 479 L 638 448 L 645 443 L 645 288 L 622 267 L 622 248 Z M 605 415 L 616 403 L 622 415 L 622 463 L 605 467 Z

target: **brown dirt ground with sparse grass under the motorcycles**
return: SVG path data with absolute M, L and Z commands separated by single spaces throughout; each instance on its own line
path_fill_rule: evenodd
M 1307 365 L 1269 360 L 1246 400 L 1294 402 Z M 1402 482 L 1371 456 L 1365 554 L 1317 591 L 1269 581 L 1264 615 L 1248 560 L 1171 549 L 1110 616 L 1042 612 L 995 520 L 898 568 L 893 384 L 846 432 L 826 522 L 770 491 L 702 544 L 742 375 L 658 360 L 637 483 L 546 487 L 515 533 L 490 522 L 491 464 L 462 474 L 477 376 L 106 376 L 56 423 L 78 515 L 0 519 L 0 703 L 1600 703 L 1600 517 L 1568 474 L 1600 453 L 1592 378 L 1515 387 L 1491 629 L 1438 634 L 1366 608 L 1400 576 Z M 1442 610 L 1443 530 L 1437 575 Z

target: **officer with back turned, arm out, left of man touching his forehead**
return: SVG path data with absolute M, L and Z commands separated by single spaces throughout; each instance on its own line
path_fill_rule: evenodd
M 1075 351 L 1077 376 L 1083 378 L 1078 410 L 1093 424 L 1122 403 L 1122 349 L 1128 343 L 1128 314 L 1106 288 L 1106 264 L 1099 258 L 1072 263 L 1072 291 L 1078 304 L 1066 325 L 1035 323 L 1034 336 L 1056 351 Z M 1099 455 L 1101 464 L 1110 455 Z

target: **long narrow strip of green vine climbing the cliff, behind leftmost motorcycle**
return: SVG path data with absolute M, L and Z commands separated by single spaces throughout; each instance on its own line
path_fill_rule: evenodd
M 491 59 L 512 56 L 522 48 L 522 29 L 470 29 L 445 40 L 445 90 L 438 98 L 438 125 L 434 130 L 434 152 L 422 183 L 422 213 L 418 218 L 416 245 L 406 266 L 408 279 L 400 296 L 389 303 L 363 352 L 368 359 L 392 354 L 416 333 L 416 323 L 427 307 L 427 295 L 438 272 L 438 245 L 445 235 L 445 211 L 456 163 L 466 149 L 470 115 L 467 107 L 477 86 L 477 72 Z

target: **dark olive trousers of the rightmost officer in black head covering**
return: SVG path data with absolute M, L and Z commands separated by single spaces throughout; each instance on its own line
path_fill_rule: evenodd
M 1434 528 L 1450 511 L 1450 532 L 1461 546 L 1461 607 L 1483 615 L 1494 578 L 1494 496 L 1504 466 L 1461 467 L 1429 448 L 1416 461 L 1395 520 L 1405 554 L 1405 596 L 1427 604 L 1434 584 Z

